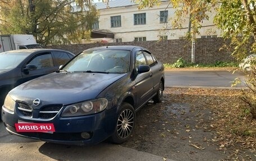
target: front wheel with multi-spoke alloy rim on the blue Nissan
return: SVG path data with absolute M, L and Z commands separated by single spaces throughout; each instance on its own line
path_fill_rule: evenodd
M 135 111 L 131 104 L 123 103 L 118 113 L 114 134 L 109 138 L 115 144 L 128 140 L 134 130 Z

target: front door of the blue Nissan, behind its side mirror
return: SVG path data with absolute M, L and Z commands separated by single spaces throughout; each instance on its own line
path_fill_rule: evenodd
M 138 50 L 135 53 L 135 72 L 136 78 L 136 107 L 140 107 L 144 103 L 148 102 L 153 93 L 152 71 L 145 73 L 138 73 L 137 69 L 139 65 L 147 65 L 146 58 L 142 50 Z

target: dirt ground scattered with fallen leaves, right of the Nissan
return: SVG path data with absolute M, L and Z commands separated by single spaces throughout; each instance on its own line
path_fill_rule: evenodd
M 256 120 L 240 90 L 167 88 L 136 113 L 122 144 L 174 160 L 256 160 Z

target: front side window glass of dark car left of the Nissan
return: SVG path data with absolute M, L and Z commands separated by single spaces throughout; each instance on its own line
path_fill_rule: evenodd
M 27 64 L 36 65 L 36 69 L 53 67 L 52 54 L 40 54 L 39 56 L 34 57 Z

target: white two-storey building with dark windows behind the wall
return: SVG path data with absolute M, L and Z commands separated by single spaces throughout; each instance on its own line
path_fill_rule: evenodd
M 162 1 L 159 6 L 138 10 L 138 4 L 131 0 L 116 0 L 106 3 L 95 3 L 100 12 L 99 21 L 93 25 L 92 42 L 104 38 L 108 42 L 151 41 L 162 39 L 184 38 L 189 28 L 189 17 L 182 29 L 171 29 L 171 21 L 175 16 L 175 9 L 170 1 Z M 213 24 L 213 13 L 209 13 L 209 20 L 202 22 L 200 35 L 197 38 L 217 37 L 220 32 Z M 211 32 L 209 32 L 211 31 Z M 106 34 L 104 34 L 106 33 Z M 86 42 L 89 43 L 89 42 Z

